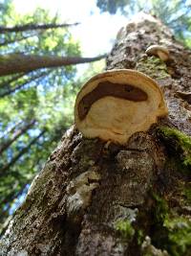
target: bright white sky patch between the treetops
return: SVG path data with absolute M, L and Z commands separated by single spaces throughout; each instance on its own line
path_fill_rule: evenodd
M 58 13 L 62 22 L 80 22 L 71 28 L 74 39 L 81 45 L 84 57 L 93 57 L 111 51 L 117 31 L 127 23 L 123 15 L 99 13 L 96 0 L 13 0 L 20 13 L 32 12 L 36 7 Z

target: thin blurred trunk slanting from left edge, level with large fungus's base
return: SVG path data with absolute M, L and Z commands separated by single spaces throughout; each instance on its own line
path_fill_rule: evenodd
M 28 129 L 32 128 L 32 126 L 35 124 L 35 122 L 36 122 L 35 120 L 32 120 L 30 123 L 25 124 L 24 127 L 19 128 L 18 130 L 16 130 L 13 133 L 11 139 L 2 143 L 0 145 L 0 155 L 2 154 L 3 151 L 6 151 L 17 138 L 19 138 L 21 135 L 23 135 Z

